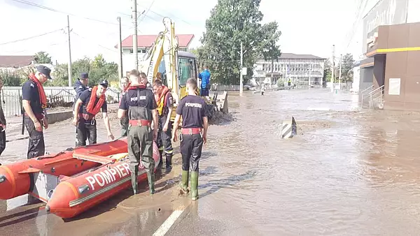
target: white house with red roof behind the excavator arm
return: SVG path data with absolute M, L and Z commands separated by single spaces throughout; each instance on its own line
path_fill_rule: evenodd
M 178 34 L 179 51 L 187 51 L 191 41 L 194 39 L 194 34 Z M 155 43 L 157 35 L 139 35 L 137 36 L 137 52 L 139 61 L 141 61 Z M 116 46 L 117 48 L 117 46 Z M 128 73 L 134 68 L 134 51 L 133 51 L 133 36 L 128 36 L 122 42 L 123 48 L 123 72 Z

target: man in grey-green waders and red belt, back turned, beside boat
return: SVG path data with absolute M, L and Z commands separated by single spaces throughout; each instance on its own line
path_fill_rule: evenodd
M 130 171 L 133 193 L 139 193 L 137 177 L 139 175 L 139 162 L 146 169 L 149 190 L 155 193 L 155 160 L 153 159 L 153 140 L 158 135 L 158 105 L 156 105 L 153 91 L 146 89 L 142 83 L 146 75 L 137 70 L 130 71 L 131 85 L 121 99 L 118 118 L 129 118 L 127 137 L 128 156 L 130 158 Z M 128 112 L 127 112 L 128 110 Z

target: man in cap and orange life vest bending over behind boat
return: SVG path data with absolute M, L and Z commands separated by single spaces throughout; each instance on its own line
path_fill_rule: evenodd
M 105 97 L 106 88 L 108 88 L 108 82 L 103 80 L 99 85 L 83 91 L 76 105 L 74 105 L 73 125 L 77 127 L 77 147 L 85 146 L 87 139 L 89 139 L 89 145 L 97 143 L 97 121 L 95 116 L 101 109 L 108 138 L 109 140 L 114 139 L 109 126 L 108 105 Z

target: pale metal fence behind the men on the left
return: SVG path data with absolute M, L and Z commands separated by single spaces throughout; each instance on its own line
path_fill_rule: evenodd
M 71 107 L 76 96 L 73 87 L 44 87 L 45 95 L 50 106 Z M 22 115 L 22 88 L 3 87 L 1 89 L 1 105 L 6 117 Z M 119 103 L 120 91 L 109 88 L 106 90 L 106 102 Z

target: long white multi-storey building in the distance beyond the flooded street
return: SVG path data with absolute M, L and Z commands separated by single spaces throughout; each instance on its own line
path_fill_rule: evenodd
M 310 54 L 282 53 L 279 61 L 259 59 L 253 71 L 250 84 L 286 84 L 290 79 L 296 86 L 321 86 L 325 59 Z M 286 84 L 287 85 L 287 84 Z

